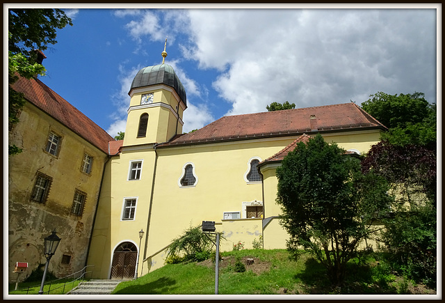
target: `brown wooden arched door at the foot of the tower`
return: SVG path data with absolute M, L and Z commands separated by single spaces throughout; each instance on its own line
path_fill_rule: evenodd
M 131 242 L 120 244 L 113 254 L 110 279 L 133 279 L 137 257 L 138 249 L 135 244 Z

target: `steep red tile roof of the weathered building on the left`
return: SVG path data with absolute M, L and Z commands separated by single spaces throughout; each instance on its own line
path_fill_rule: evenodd
M 26 100 L 36 107 L 108 154 L 108 141 L 114 141 L 113 137 L 43 84 L 40 79 L 20 77 L 12 87 L 15 91 L 24 93 Z

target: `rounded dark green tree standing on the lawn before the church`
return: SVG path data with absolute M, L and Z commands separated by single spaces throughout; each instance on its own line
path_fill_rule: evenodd
M 375 233 L 372 223 L 389 211 L 387 182 L 363 174 L 359 159 L 320 134 L 284 157 L 277 178 L 288 250 L 298 257 L 298 249 L 310 249 L 339 286 L 359 243 Z

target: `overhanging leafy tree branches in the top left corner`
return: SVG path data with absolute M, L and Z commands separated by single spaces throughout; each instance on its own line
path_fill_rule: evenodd
M 56 29 L 62 29 L 72 20 L 60 9 L 19 9 L 8 12 L 8 83 L 13 84 L 19 77 L 30 79 L 44 75 L 43 65 L 37 62 L 35 49 L 47 49 L 55 44 Z M 19 121 L 17 113 L 24 106 L 22 93 L 8 88 L 9 129 Z M 21 153 L 17 146 L 8 146 L 9 155 Z

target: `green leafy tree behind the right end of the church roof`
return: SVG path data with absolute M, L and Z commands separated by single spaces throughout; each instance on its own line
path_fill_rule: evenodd
M 382 134 L 398 146 L 417 144 L 435 149 L 436 105 L 425 100 L 424 93 L 388 95 L 378 92 L 362 103 L 362 108 L 389 128 Z

